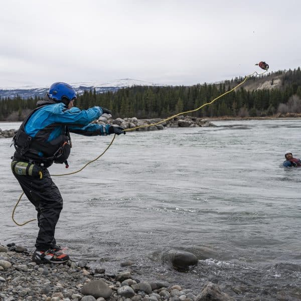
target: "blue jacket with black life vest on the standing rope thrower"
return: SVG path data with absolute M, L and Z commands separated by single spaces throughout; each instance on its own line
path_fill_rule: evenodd
M 56 103 L 46 95 L 44 100 L 37 102 L 37 108 L 23 121 L 14 137 L 14 160 L 44 167 L 49 167 L 53 162 L 64 163 L 70 154 L 69 132 L 85 136 L 109 134 L 109 124 L 91 123 L 101 115 L 101 107 L 68 109 L 64 103 Z M 62 153 L 66 153 L 63 154 L 66 158 L 62 156 L 59 160 Z

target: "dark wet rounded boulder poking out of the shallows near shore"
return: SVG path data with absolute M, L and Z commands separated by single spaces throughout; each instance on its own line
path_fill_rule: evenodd
M 178 271 L 187 271 L 191 266 L 198 264 L 198 258 L 190 252 L 171 250 L 168 255 L 171 266 Z

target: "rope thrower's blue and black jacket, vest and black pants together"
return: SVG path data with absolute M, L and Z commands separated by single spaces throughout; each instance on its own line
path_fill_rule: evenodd
M 43 177 L 19 175 L 15 171 L 13 174 L 38 212 L 40 230 L 35 246 L 37 250 L 45 251 L 56 247 L 55 227 L 63 208 L 62 196 L 47 168 L 53 162 L 64 162 L 54 158 L 54 155 L 63 144 L 71 144 L 70 135 L 69 138 L 66 136 L 69 131 L 87 136 L 107 135 L 109 125 L 90 123 L 102 114 L 101 107 L 68 109 L 63 103 L 56 103 L 48 96 L 45 96 L 44 101 L 38 101 L 37 105 L 38 108 L 24 120 L 14 137 L 16 152 L 13 161 L 35 164 Z

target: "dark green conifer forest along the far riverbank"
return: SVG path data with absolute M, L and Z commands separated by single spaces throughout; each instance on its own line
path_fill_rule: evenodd
M 273 89 L 250 90 L 243 86 L 221 97 L 212 105 L 190 113 L 195 117 L 262 117 L 277 112 L 301 113 L 300 68 L 277 71 L 266 76 L 251 77 L 249 81 L 270 80 L 281 75 L 281 84 Z M 94 105 L 106 107 L 113 117 L 165 118 L 183 111 L 190 111 L 217 96 L 230 91 L 244 78 L 235 78 L 220 84 L 193 86 L 133 86 L 116 92 L 96 93 L 95 89 L 78 95 L 75 105 L 87 109 Z M 0 120 L 23 120 L 36 107 L 40 97 L 22 99 L 20 96 L 0 98 Z

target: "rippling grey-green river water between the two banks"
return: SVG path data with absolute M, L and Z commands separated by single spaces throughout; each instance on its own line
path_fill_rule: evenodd
M 237 300 L 301 299 L 301 169 L 284 170 L 284 152 L 301 157 L 301 120 L 216 121 L 217 127 L 131 132 L 82 172 L 56 177 L 64 199 L 57 240 L 73 258 L 139 279 L 165 279 L 199 293 L 218 283 Z M 16 128 L 1 123 L 0 128 Z M 69 172 L 97 157 L 112 136 L 73 135 Z M 38 231 L 16 226 L 21 189 L 10 171 L 10 139 L 0 140 L 2 243 L 34 248 Z M 63 165 L 50 168 L 64 173 Z M 24 199 L 18 221 L 35 216 Z M 171 249 L 199 265 L 171 270 Z

